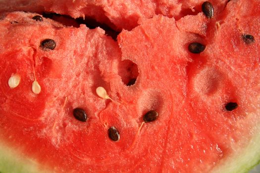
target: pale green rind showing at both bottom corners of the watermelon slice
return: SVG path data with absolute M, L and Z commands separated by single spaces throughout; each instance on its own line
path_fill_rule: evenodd
M 260 112 L 260 111 L 259 111 Z M 260 113 L 258 114 L 260 115 Z M 212 173 L 248 173 L 260 163 L 260 126 L 255 126 L 255 135 L 245 149 L 235 152 L 232 156 L 221 160 L 211 171 Z M 36 161 L 23 156 L 0 142 L 0 173 L 52 173 L 43 170 Z

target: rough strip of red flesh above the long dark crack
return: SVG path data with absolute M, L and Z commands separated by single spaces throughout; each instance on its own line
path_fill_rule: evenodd
M 222 11 L 228 0 L 212 0 L 215 14 Z M 93 17 L 114 30 L 131 30 L 143 18 L 156 14 L 180 19 L 201 12 L 204 0 L 2 0 L 0 12 L 25 10 L 55 12 L 74 18 Z

